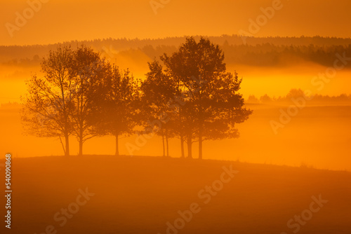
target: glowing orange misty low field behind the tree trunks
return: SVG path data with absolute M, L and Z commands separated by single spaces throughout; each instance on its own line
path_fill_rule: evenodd
M 237 160 L 274 165 L 308 165 L 319 169 L 351 171 L 351 106 L 306 105 L 290 123 L 274 134 L 270 121 L 279 121 L 280 109 L 289 104 L 246 104 L 253 115 L 238 125 L 239 139 L 204 142 L 204 158 Z M 62 154 L 58 139 L 22 134 L 19 109 L 0 109 L 0 151 L 15 158 Z M 126 143 L 135 144 L 135 135 L 120 140 L 120 153 L 128 154 Z M 77 140 L 70 139 L 71 153 L 78 153 Z M 197 144 L 193 146 L 197 158 Z M 114 137 L 96 137 L 84 144 L 86 154 L 114 153 Z M 154 136 L 133 152 L 135 156 L 161 156 L 160 137 Z M 180 157 L 179 139 L 170 140 L 170 155 Z M 4 157 L 0 156 L 0 158 Z

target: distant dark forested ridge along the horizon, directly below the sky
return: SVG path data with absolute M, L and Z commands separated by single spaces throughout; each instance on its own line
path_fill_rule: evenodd
M 194 36 L 198 39 L 199 36 Z M 208 36 L 208 39 L 220 45 L 225 53 L 227 64 L 246 64 L 249 66 L 289 66 L 303 62 L 313 62 L 331 66 L 336 54 L 351 55 L 351 39 L 329 37 L 252 37 L 246 38 L 246 44 L 240 36 Z M 163 53 L 174 53 L 184 37 L 166 39 L 97 39 L 93 41 L 69 41 L 63 45 L 80 45 L 94 48 L 107 58 L 117 55 L 131 57 L 138 61 L 135 52 L 141 52 L 150 58 Z M 0 63 L 9 66 L 35 67 L 41 57 L 49 50 L 55 50 L 58 44 L 36 46 L 0 46 Z M 347 64 L 350 68 L 351 64 Z

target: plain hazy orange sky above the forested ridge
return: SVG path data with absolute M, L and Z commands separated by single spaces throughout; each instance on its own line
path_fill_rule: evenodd
M 31 2 L 39 0 L 29 0 Z M 48 0 L 41 0 L 48 1 Z M 249 19 L 272 6 L 270 0 L 152 0 L 164 2 L 154 13 L 150 0 L 49 0 L 39 11 L 26 11 L 27 0 L 1 0 L 0 45 L 56 43 L 112 38 L 238 34 L 249 32 Z M 274 0 L 279 1 L 279 0 Z M 168 2 L 168 3 L 167 3 Z M 350 37 L 351 1 L 282 0 L 282 8 L 254 36 Z M 17 27 L 16 13 L 27 13 Z M 31 15 L 32 13 L 32 15 Z M 7 26 L 6 26 L 7 24 Z

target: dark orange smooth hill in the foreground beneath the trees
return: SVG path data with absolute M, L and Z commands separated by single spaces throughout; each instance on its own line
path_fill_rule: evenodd
M 351 233 L 350 181 L 217 160 L 15 158 L 11 230 L 1 221 L 1 233 Z

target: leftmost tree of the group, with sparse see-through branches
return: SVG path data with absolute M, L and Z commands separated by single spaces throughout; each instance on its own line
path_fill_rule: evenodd
M 69 156 L 74 110 L 73 61 L 74 53 L 69 46 L 50 51 L 41 62 L 44 76 L 32 75 L 26 82 L 28 93 L 22 97 L 25 130 L 38 137 L 58 137 L 65 156 Z M 61 137 L 65 138 L 65 144 Z

